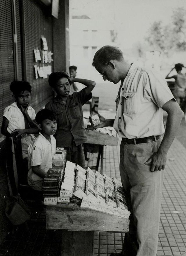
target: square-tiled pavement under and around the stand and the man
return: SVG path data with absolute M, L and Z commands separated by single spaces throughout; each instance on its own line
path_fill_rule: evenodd
M 88 165 L 96 166 L 97 154 L 88 154 Z M 186 149 L 175 139 L 167 157 L 162 193 L 157 256 L 186 256 Z M 119 178 L 119 145 L 105 146 L 103 169 Z M 103 171 L 104 173 L 104 171 Z M 0 247 L 0 256 L 60 256 L 61 232 L 45 230 L 45 209 L 33 211 L 29 232 L 23 227 L 14 236 L 8 234 Z M 120 252 L 124 234 L 95 232 L 94 256 Z M 83 255 L 82 255 L 83 256 Z

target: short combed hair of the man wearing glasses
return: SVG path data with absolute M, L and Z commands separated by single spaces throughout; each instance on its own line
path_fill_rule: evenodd
M 121 50 L 110 45 L 105 45 L 96 51 L 92 61 L 92 66 L 96 68 L 98 65 L 105 65 L 111 60 L 120 61 L 121 59 L 123 59 L 123 53 Z

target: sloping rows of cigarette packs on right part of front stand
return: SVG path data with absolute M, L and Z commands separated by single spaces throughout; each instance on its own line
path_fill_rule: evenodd
M 76 166 L 73 198 L 71 201 L 81 203 L 81 207 L 123 218 L 130 216 L 121 182 L 90 168 Z

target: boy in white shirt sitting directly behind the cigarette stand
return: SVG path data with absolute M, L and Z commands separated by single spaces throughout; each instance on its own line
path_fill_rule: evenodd
M 35 117 L 39 136 L 28 147 L 28 184 L 41 191 L 43 178 L 52 168 L 52 158 L 56 152 L 57 122 L 53 112 L 48 109 L 39 111 Z

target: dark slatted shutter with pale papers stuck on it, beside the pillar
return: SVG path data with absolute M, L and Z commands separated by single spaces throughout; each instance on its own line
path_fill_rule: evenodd
M 49 101 L 53 93 L 48 84 L 48 79 L 35 79 L 34 49 L 41 49 L 41 36 L 47 39 L 49 50 L 52 51 L 52 18 L 49 9 L 37 1 L 23 1 L 24 3 L 24 24 L 25 24 L 25 45 L 26 45 L 26 76 L 32 86 L 31 105 L 37 112 L 41 106 Z M 52 65 L 52 63 L 50 63 Z

